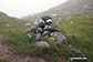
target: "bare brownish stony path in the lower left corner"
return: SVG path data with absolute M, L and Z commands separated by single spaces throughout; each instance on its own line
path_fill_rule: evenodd
M 3 35 L 0 35 L 0 60 L 8 60 L 9 62 L 48 62 L 43 58 L 20 56 L 9 51 L 8 45 L 1 43 Z

